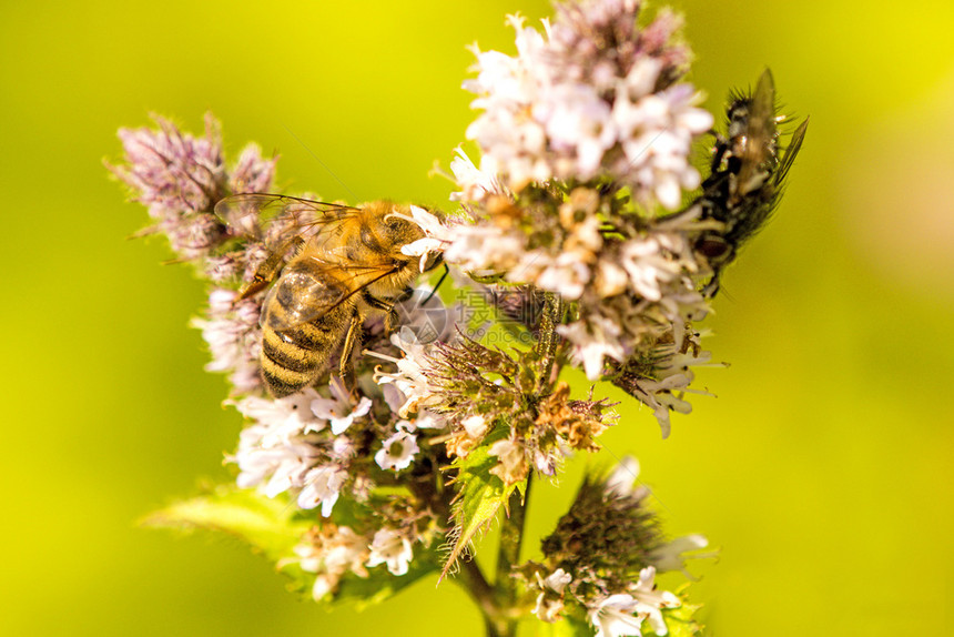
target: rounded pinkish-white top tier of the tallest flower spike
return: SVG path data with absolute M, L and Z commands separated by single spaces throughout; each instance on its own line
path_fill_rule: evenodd
M 678 20 L 663 12 L 640 31 L 638 13 L 635 1 L 581 3 L 545 21 L 545 33 L 510 17 L 516 57 L 475 49 L 477 78 L 464 87 L 484 112 L 467 136 L 484 153 L 485 174 L 515 191 L 608 176 L 668 209 L 699 185 L 689 154 L 712 115 L 694 107 L 690 84 L 676 83 L 689 58 L 684 44 L 667 41 Z M 610 40 L 618 38 L 626 41 Z

